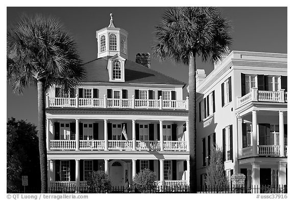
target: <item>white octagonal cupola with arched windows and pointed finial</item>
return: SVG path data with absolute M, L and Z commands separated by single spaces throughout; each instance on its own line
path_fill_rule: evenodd
M 128 59 L 128 32 L 114 26 L 112 13 L 110 13 L 109 26 L 96 31 L 96 38 L 98 47 L 97 58 L 118 54 L 122 58 Z

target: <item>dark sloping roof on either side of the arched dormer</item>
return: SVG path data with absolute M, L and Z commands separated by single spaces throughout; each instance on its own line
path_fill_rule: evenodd
M 87 74 L 85 81 L 109 82 L 107 63 L 108 58 L 110 57 L 111 56 L 107 56 L 85 63 L 83 65 Z M 125 82 L 185 84 L 182 81 L 176 80 L 129 60 L 126 60 L 125 63 Z

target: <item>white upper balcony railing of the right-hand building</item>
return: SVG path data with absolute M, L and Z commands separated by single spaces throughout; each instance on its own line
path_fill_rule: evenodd
M 279 91 L 261 91 L 257 88 L 252 88 L 251 92 L 238 99 L 239 107 L 252 101 L 267 101 L 267 102 L 288 102 L 287 92 L 283 89 Z

